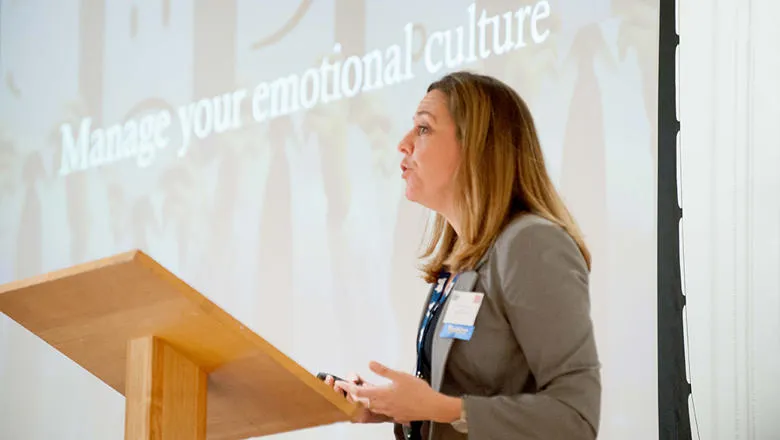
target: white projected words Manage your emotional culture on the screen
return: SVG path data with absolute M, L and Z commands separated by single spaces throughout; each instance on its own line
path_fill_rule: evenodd
M 181 105 L 175 112 L 176 124 L 168 110 L 105 128 L 93 127 L 91 118 L 74 125 L 66 123 L 60 127 L 59 174 L 65 176 L 128 159 L 134 159 L 139 167 L 147 167 L 154 162 L 156 151 L 170 144 L 170 130 L 180 130 L 181 144 L 176 151 L 182 157 L 194 139 L 240 128 L 245 102 L 251 108 L 252 120 L 262 123 L 408 81 L 415 76 L 413 60 L 418 56 L 428 74 L 437 74 L 529 44 L 541 44 L 550 35 L 545 26 L 545 19 L 550 16 L 547 0 L 497 14 L 488 14 L 484 9 L 478 13 L 476 5 L 471 4 L 461 25 L 421 35 L 422 42 L 415 41 L 415 29 L 409 23 L 403 28 L 400 43 L 362 56 L 345 57 L 337 43 L 331 56 L 302 73 Z

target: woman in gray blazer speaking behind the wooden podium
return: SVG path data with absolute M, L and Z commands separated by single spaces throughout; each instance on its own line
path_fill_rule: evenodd
M 398 439 L 593 439 L 599 360 L 590 255 L 545 169 L 532 116 L 502 82 L 431 84 L 399 150 L 406 197 L 436 211 L 416 374 L 326 381 Z

